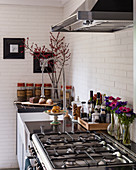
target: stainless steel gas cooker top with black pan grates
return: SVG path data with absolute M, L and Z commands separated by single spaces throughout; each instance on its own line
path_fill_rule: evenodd
M 96 132 L 33 134 L 32 143 L 47 170 L 126 169 L 136 165 L 134 155 Z

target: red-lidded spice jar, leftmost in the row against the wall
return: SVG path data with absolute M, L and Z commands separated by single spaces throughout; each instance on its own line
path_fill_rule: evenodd
M 26 101 L 25 83 L 17 83 L 17 100 L 19 102 Z

